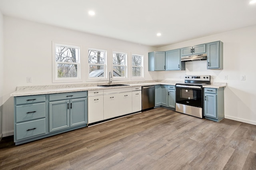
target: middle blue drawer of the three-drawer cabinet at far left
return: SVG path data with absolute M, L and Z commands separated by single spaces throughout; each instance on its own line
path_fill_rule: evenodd
M 45 103 L 16 106 L 16 122 L 44 118 L 45 114 Z

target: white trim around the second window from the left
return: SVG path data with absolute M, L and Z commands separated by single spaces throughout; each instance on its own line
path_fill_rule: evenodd
M 88 63 L 88 59 L 89 59 L 89 50 L 95 50 L 95 51 L 104 51 L 106 52 L 106 56 L 105 56 L 105 64 L 104 64 L 104 77 L 90 77 L 89 73 L 90 73 L 90 65 L 102 65 L 102 64 L 90 64 Z M 98 48 L 87 48 L 86 49 L 86 67 L 87 67 L 87 80 L 86 81 L 106 81 L 108 80 L 108 50 L 105 49 L 98 49 Z

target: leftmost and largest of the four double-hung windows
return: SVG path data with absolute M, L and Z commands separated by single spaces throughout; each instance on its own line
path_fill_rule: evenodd
M 54 44 L 53 82 L 80 80 L 80 47 Z

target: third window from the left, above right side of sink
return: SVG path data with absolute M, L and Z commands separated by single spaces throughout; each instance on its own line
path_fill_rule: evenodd
M 126 78 L 126 53 L 113 52 L 113 76 Z

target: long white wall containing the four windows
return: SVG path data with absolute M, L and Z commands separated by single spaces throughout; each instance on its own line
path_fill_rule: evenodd
M 84 55 L 87 48 L 106 49 L 109 56 L 113 49 L 127 52 L 128 56 L 130 53 L 144 55 L 145 70 L 148 70 L 148 51 L 156 50 L 150 46 L 4 16 L 4 136 L 13 134 L 14 104 L 10 93 L 13 93 L 17 86 L 53 84 L 52 41 L 82 46 L 81 83 L 86 83 L 87 62 Z M 32 83 L 26 83 L 26 77 L 32 77 Z M 157 79 L 157 73 L 145 71 L 144 77 L 145 80 Z

